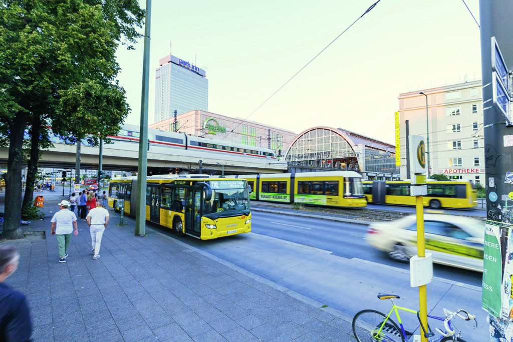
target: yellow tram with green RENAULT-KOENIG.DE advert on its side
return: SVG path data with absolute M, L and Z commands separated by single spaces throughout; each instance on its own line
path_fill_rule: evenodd
M 354 171 L 248 174 L 251 199 L 317 206 L 365 207 L 362 176 Z

